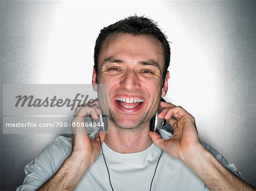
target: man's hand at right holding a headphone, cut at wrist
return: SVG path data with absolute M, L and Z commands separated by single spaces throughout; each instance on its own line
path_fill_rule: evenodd
M 160 102 L 163 111 L 158 118 L 165 118 L 173 128 L 174 137 L 164 140 L 157 133 L 150 131 L 152 141 L 174 158 L 184 161 L 191 151 L 201 150 L 201 145 L 195 124 L 195 118 L 185 109 L 167 102 Z M 172 116 L 175 116 L 175 120 Z

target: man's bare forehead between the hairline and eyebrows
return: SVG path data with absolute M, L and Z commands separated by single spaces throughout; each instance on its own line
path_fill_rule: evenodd
M 101 65 L 106 58 L 117 58 L 138 62 L 154 60 L 159 65 L 164 65 L 163 55 L 162 44 L 153 36 L 114 33 L 105 40 L 98 56 L 98 64 Z

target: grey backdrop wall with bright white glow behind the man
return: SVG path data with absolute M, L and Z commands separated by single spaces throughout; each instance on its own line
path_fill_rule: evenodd
M 256 186 L 255 10 L 255 1 L 1 1 L 1 84 L 90 83 L 100 29 L 145 14 L 172 42 L 165 99 Z M 57 136 L 1 134 L 1 190 L 22 184 L 24 166 Z

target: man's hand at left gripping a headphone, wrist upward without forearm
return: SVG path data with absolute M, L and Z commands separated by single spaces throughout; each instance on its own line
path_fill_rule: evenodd
M 105 133 L 98 134 L 96 139 L 88 136 L 85 129 L 85 116 L 89 114 L 94 120 L 97 120 L 98 115 L 101 113 L 98 108 L 98 101 L 94 101 L 94 107 L 77 107 L 75 110 L 75 117 L 72 120 L 72 154 L 77 159 L 81 159 L 83 163 L 88 165 L 92 164 L 100 154 L 101 141 L 104 142 L 106 137 Z M 100 136 L 100 138 L 99 138 Z

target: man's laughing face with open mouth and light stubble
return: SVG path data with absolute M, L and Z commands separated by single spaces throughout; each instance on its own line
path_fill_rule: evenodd
M 98 74 L 93 73 L 93 84 L 109 85 L 110 120 L 121 128 L 148 125 L 166 95 L 163 69 L 163 48 L 154 37 L 110 36 L 98 56 Z

